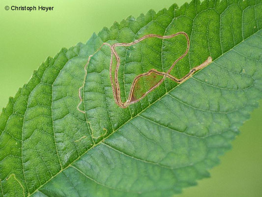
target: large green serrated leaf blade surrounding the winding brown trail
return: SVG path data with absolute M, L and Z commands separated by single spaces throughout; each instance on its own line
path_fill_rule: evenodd
M 262 98 L 261 10 L 261 0 L 193 0 L 128 17 L 48 58 L 0 115 L 0 197 L 162 197 L 208 177 Z M 172 76 L 209 56 L 213 62 L 119 107 L 111 50 L 101 45 L 178 32 L 190 47 Z M 128 101 L 138 75 L 166 73 L 186 48 L 182 35 L 117 47 L 120 99 Z M 134 97 L 150 89 L 152 76 L 136 84 Z

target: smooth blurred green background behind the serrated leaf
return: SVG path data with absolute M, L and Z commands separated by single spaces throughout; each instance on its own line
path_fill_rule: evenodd
M 185 0 L 0 0 L 0 108 L 14 96 L 34 69 L 61 47 L 86 42 L 114 21 L 135 17 L 150 8 L 158 11 Z M 11 11 L 6 5 L 54 6 L 53 11 Z M 241 127 L 233 150 L 198 181 L 176 197 L 262 197 L 261 107 Z

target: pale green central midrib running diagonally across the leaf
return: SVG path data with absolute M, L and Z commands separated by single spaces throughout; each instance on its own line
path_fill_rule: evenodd
M 259 32 L 261 30 L 258 30 L 257 32 Z M 239 42 L 238 44 L 236 44 L 234 47 L 238 46 L 239 44 L 241 44 L 243 41 L 245 41 L 246 39 L 248 39 L 249 37 L 253 36 L 254 34 L 256 34 L 257 32 L 253 33 L 252 35 L 246 37 L 245 39 L 243 39 L 241 42 Z M 222 53 L 219 57 L 217 57 L 216 59 L 214 59 L 212 61 L 212 63 L 219 59 L 221 56 L 225 55 L 226 53 L 228 53 L 229 51 L 231 51 L 234 47 L 232 47 L 231 49 L 229 49 L 228 51 Z M 210 64 L 212 64 L 210 63 Z M 209 64 L 209 65 L 210 65 Z M 209 66 L 207 65 L 207 66 Z M 207 67 L 206 66 L 206 67 Z M 203 68 L 205 69 L 205 68 Z M 203 70 L 202 69 L 202 70 Z M 201 72 L 202 70 L 199 70 L 199 72 Z M 197 72 L 198 73 L 198 72 Z M 196 73 L 195 73 L 196 74 Z M 193 74 L 193 76 L 195 75 Z M 148 107 L 152 106 L 155 102 L 157 102 L 158 100 L 162 99 L 164 96 L 166 96 L 167 94 L 169 94 L 171 91 L 173 91 L 176 87 L 178 87 L 180 84 L 177 84 L 173 89 L 167 91 L 164 95 L 162 95 L 161 97 L 159 97 L 158 99 L 156 99 L 154 102 L 152 102 L 151 104 L 149 104 L 145 109 L 141 110 L 137 115 L 135 115 L 134 117 L 130 118 L 128 121 L 126 121 L 124 124 L 122 124 L 121 126 L 119 126 L 116 130 L 113 130 L 112 133 L 110 133 L 108 136 L 106 136 L 105 138 L 103 138 L 103 140 L 109 138 L 112 134 L 114 134 L 117 130 L 119 130 L 120 128 L 122 128 L 124 125 L 126 125 L 127 123 L 129 123 L 131 120 L 133 120 L 134 118 L 136 118 L 137 116 L 139 116 L 142 112 L 144 112 Z M 71 164 L 75 163 L 79 158 L 81 158 L 83 155 L 85 155 L 89 150 L 91 150 L 92 148 L 96 147 L 97 145 L 99 145 L 100 143 L 102 143 L 103 140 L 100 140 L 98 143 L 94 144 L 93 146 L 91 146 L 89 149 L 87 149 L 86 152 L 84 152 L 82 155 L 80 155 L 77 159 L 75 159 L 72 163 L 70 163 L 68 166 L 66 166 L 65 168 L 62 168 L 55 176 L 52 176 L 46 183 L 44 183 L 43 185 L 41 185 L 39 188 L 37 188 L 33 193 L 29 194 L 28 197 L 30 197 L 31 195 L 33 195 L 35 192 L 37 192 L 41 187 L 43 187 L 45 184 L 47 184 L 50 180 L 52 180 L 54 177 L 56 177 L 60 172 L 62 172 L 64 169 L 68 168 L 71 166 Z

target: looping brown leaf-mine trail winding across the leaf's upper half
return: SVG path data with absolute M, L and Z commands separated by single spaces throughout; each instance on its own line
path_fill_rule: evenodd
M 170 66 L 170 68 L 169 68 L 169 70 L 167 72 L 160 72 L 160 71 L 157 71 L 155 69 L 151 69 L 151 70 L 149 70 L 149 71 L 147 71 L 145 73 L 142 73 L 142 74 L 136 76 L 135 79 L 133 80 L 132 85 L 131 85 L 131 89 L 130 89 L 130 92 L 129 92 L 128 99 L 125 102 L 122 102 L 121 97 L 120 97 L 120 87 L 119 87 L 119 83 L 118 83 L 118 69 L 119 69 L 119 66 L 120 66 L 120 58 L 119 58 L 119 56 L 118 56 L 118 54 L 116 52 L 116 47 L 118 47 L 118 46 L 131 46 L 131 45 L 139 43 L 142 40 L 150 38 L 150 37 L 156 37 L 156 38 L 159 38 L 159 39 L 169 39 L 169 38 L 173 38 L 173 37 L 175 37 L 177 35 L 184 35 L 185 36 L 185 38 L 187 40 L 186 51 L 179 58 L 177 58 L 175 60 L 175 62 Z M 107 45 L 111 49 L 110 80 L 111 80 L 111 85 L 112 85 L 112 90 L 113 90 L 115 102 L 116 102 L 116 104 L 119 107 L 122 107 L 122 108 L 125 108 L 125 107 L 129 106 L 130 104 L 136 103 L 136 102 L 140 101 L 141 99 L 145 98 L 147 94 L 149 94 L 151 91 L 153 91 L 155 88 L 157 88 L 161 83 L 163 83 L 163 81 L 166 79 L 166 77 L 170 78 L 171 80 L 175 81 L 176 83 L 182 83 L 185 80 L 187 80 L 188 78 L 190 78 L 194 74 L 194 72 L 204 68 L 205 66 L 207 66 L 208 64 L 210 64 L 212 62 L 212 58 L 209 56 L 204 61 L 204 63 L 202 63 L 199 66 L 196 66 L 196 67 L 192 68 L 184 77 L 182 77 L 180 79 L 177 79 L 175 76 L 170 74 L 170 72 L 172 71 L 172 69 L 174 68 L 176 63 L 179 62 L 181 59 L 183 59 L 187 55 L 187 53 L 189 51 L 190 41 L 189 41 L 189 37 L 188 37 L 187 33 L 185 33 L 185 32 L 178 32 L 178 33 L 175 33 L 175 34 L 172 34 L 172 35 L 164 35 L 164 36 L 157 35 L 157 34 L 147 34 L 147 35 L 145 35 L 145 36 L 143 36 L 143 37 L 141 37 L 141 38 L 139 38 L 139 39 L 137 39 L 137 40 L 135 40 L 133 42 L 130 42 L 130 43 L 115 43 L 113 45 L 110 45 L 109 43 L 105 42 L 105 43 L 103 43 L 100 46 L 100 48 L 96 52 L 98 52 L 103 45 Z M 88 66 L 90 58 L 92 56 L 93 55 L 90 55 L 88 57 L 88 61 L 87 61 L 87 64 L 85 66 L 85 73 L 86 74 L 85 74 L 85 78 L 84 78 L 84 83 L 85 83 L 86 77 L 87 77 L 87 66 Z M 114 79 L 113 79 L 112 66 L 113 66 L 113 57 L 114 56 L 116 58 L 116 69 L 115 69 L 115 76 L 114 76 Z M 161 80 L 154 80 L 154 79 L 157 79 L 157 75 L 162 76 L 162 79 Z M 150 82 L 151 82 L 152 86 L 149 87 L 148 91 L 146 91 L 145 93 L 140 93 L 140 96 L 138 96 L 138 95 L 136 95 L 136 91 L 141 89 L 141 88 L 139 88 L 139 86 L 140 86 L 139 82 L 142 79 L 142 77 L 145 77 L 145 78 L 149 77 L 148 79 L 150 79 Z M 83 90 L 83 87 L 84 87 L 84 84 L 83 84 L 83 86 L 81 86 L 79 88 L 80 103 L 78 104 L 77 109 L 80 112 L 85 113 L 84 111 L 79 109 L 79 106 L 83 102 L 83 99 L 81 97 L 81 91 Z

